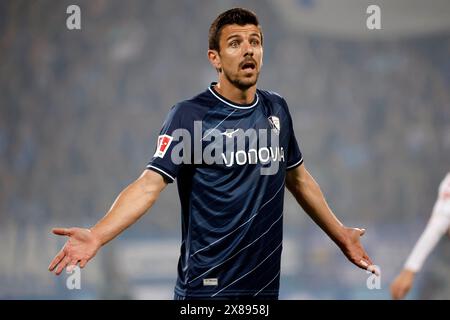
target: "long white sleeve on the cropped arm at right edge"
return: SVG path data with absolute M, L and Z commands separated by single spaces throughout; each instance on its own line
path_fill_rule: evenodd
M 405 263 L 405 269 L 417 272 L 450 226 L 450 200 L 439 196 L 428 224 Z

